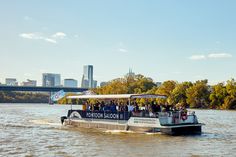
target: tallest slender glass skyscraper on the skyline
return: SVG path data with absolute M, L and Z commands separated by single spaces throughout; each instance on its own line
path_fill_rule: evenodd
M 81 81 L 82 88 L 96 88 L 97 81 L 93 80 L 93 66 L 85 65 Z

